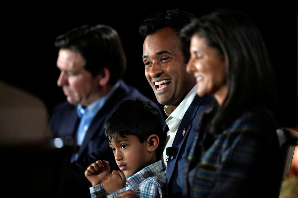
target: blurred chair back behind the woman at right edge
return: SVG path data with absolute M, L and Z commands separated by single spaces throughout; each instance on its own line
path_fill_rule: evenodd
M 294 131 L 288 128 L 279 128 L 276 130 L 279 142 L 279 148 L 282 154 L 282 180 L 279 187 L 279 192 L 282 188 L 282 183 L 285 180 L 286 174 L 290 173 L 291 163 L 295 146 L 298 145 L 298 138 L 294 135 Z

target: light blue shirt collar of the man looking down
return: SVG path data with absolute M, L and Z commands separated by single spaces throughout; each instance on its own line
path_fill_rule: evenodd
M 118 80 L 117 83 L 110 89 L 110 91 L 98 98 L 96 101 L 94 101 L 91 105 L 88 107 L 83 108 L 82 105 L 78 105 L 77 107 L 77 114 L 79 118 L 82 118 L 83 114 L 88 112 L 88 114 L 91 114 L 95 116 L 99 110 L 103 107 L 103 105 L 106 103 L 106 101 L 111 97 L 111 95 L 115 92 L 115 90 L 120 86 L 121 80 Z

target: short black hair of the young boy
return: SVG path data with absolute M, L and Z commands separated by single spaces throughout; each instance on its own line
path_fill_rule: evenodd
M 121 102 L 105 124 L 105 137 L 109 142 L 115 135 L 120 137 L 133 135 L 143 143 L 152 134 L 161 137 L 160 117 L 151 103 L 141 98 Z

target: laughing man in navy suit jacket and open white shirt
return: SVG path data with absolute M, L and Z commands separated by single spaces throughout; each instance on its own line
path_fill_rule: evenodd
M 186 72 L 189 50 L 180 41 L 179 31 L 193 18 L 181 10 L 161 11 L 143 20 L 139 28 L 145 37 L 145 75 L 168 116 L 162 156 L 168 197 L 181 196 L 185 163 L 196 136 L 194 129 L 202 111 L 213 100 L 196 95 L 196 80 Z

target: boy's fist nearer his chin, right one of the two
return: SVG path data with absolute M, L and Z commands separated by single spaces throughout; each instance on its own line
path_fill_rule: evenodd
M 102 187 L 109 194 L 125 187 L 126 177 L 120 170 L 113 170 L 105 179 L 102 180 Z

